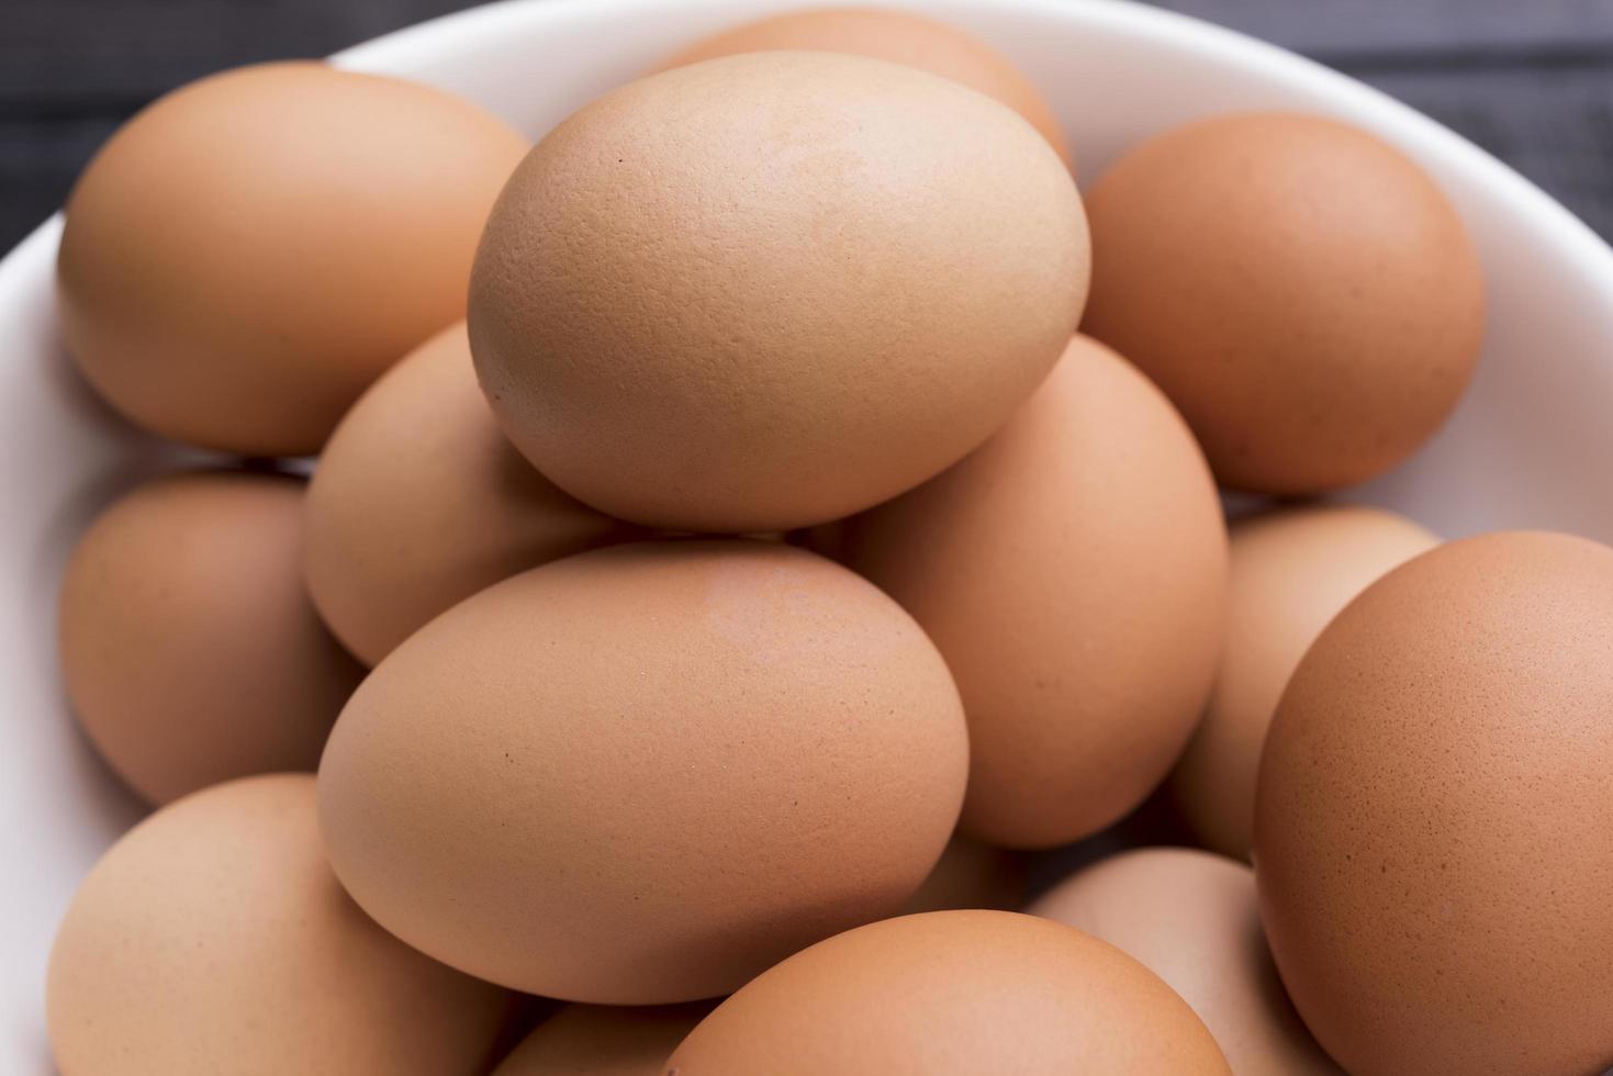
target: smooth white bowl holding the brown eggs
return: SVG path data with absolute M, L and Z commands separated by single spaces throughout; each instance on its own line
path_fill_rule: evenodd
M 879 0 L 963 26 L 1042 85 L 1095 176 L 1123 147 L 1240 108 L 1326 113 L 1418 158 L 1460 206 L 1489 273 L 1478 379 L 1411 463 L 1358 490 L 1447 534 L 1555 528 L 1613 540 L 1613 252 L 1566 210 L 1403 105 L 1276 47 L 1124 0 Z M 539 136 L 689 40 L 798 0 L 508 0 L 336 56 L 432 82 Z M 60 218 L 0 263 L 0 1070 L 50 1073 L 44 970 L 56 921 L 140 807 L 77 736 L 55 658 L 56 581 L 74 536 L 176 453 L 73 376 L 55 327 Z

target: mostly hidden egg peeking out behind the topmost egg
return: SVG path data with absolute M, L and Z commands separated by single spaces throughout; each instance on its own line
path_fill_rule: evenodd
M 916 11 L 881 8 L 784 11 L 695 42 L 660 69 L 777 48 L 847 52 L 902 63 L 961 82 L 971 90 L 995 97 L 1024 116 L 1065 161 L 1069 160 L 1069 145 L 1052 105 L 1008 56 L 955 26 Z

